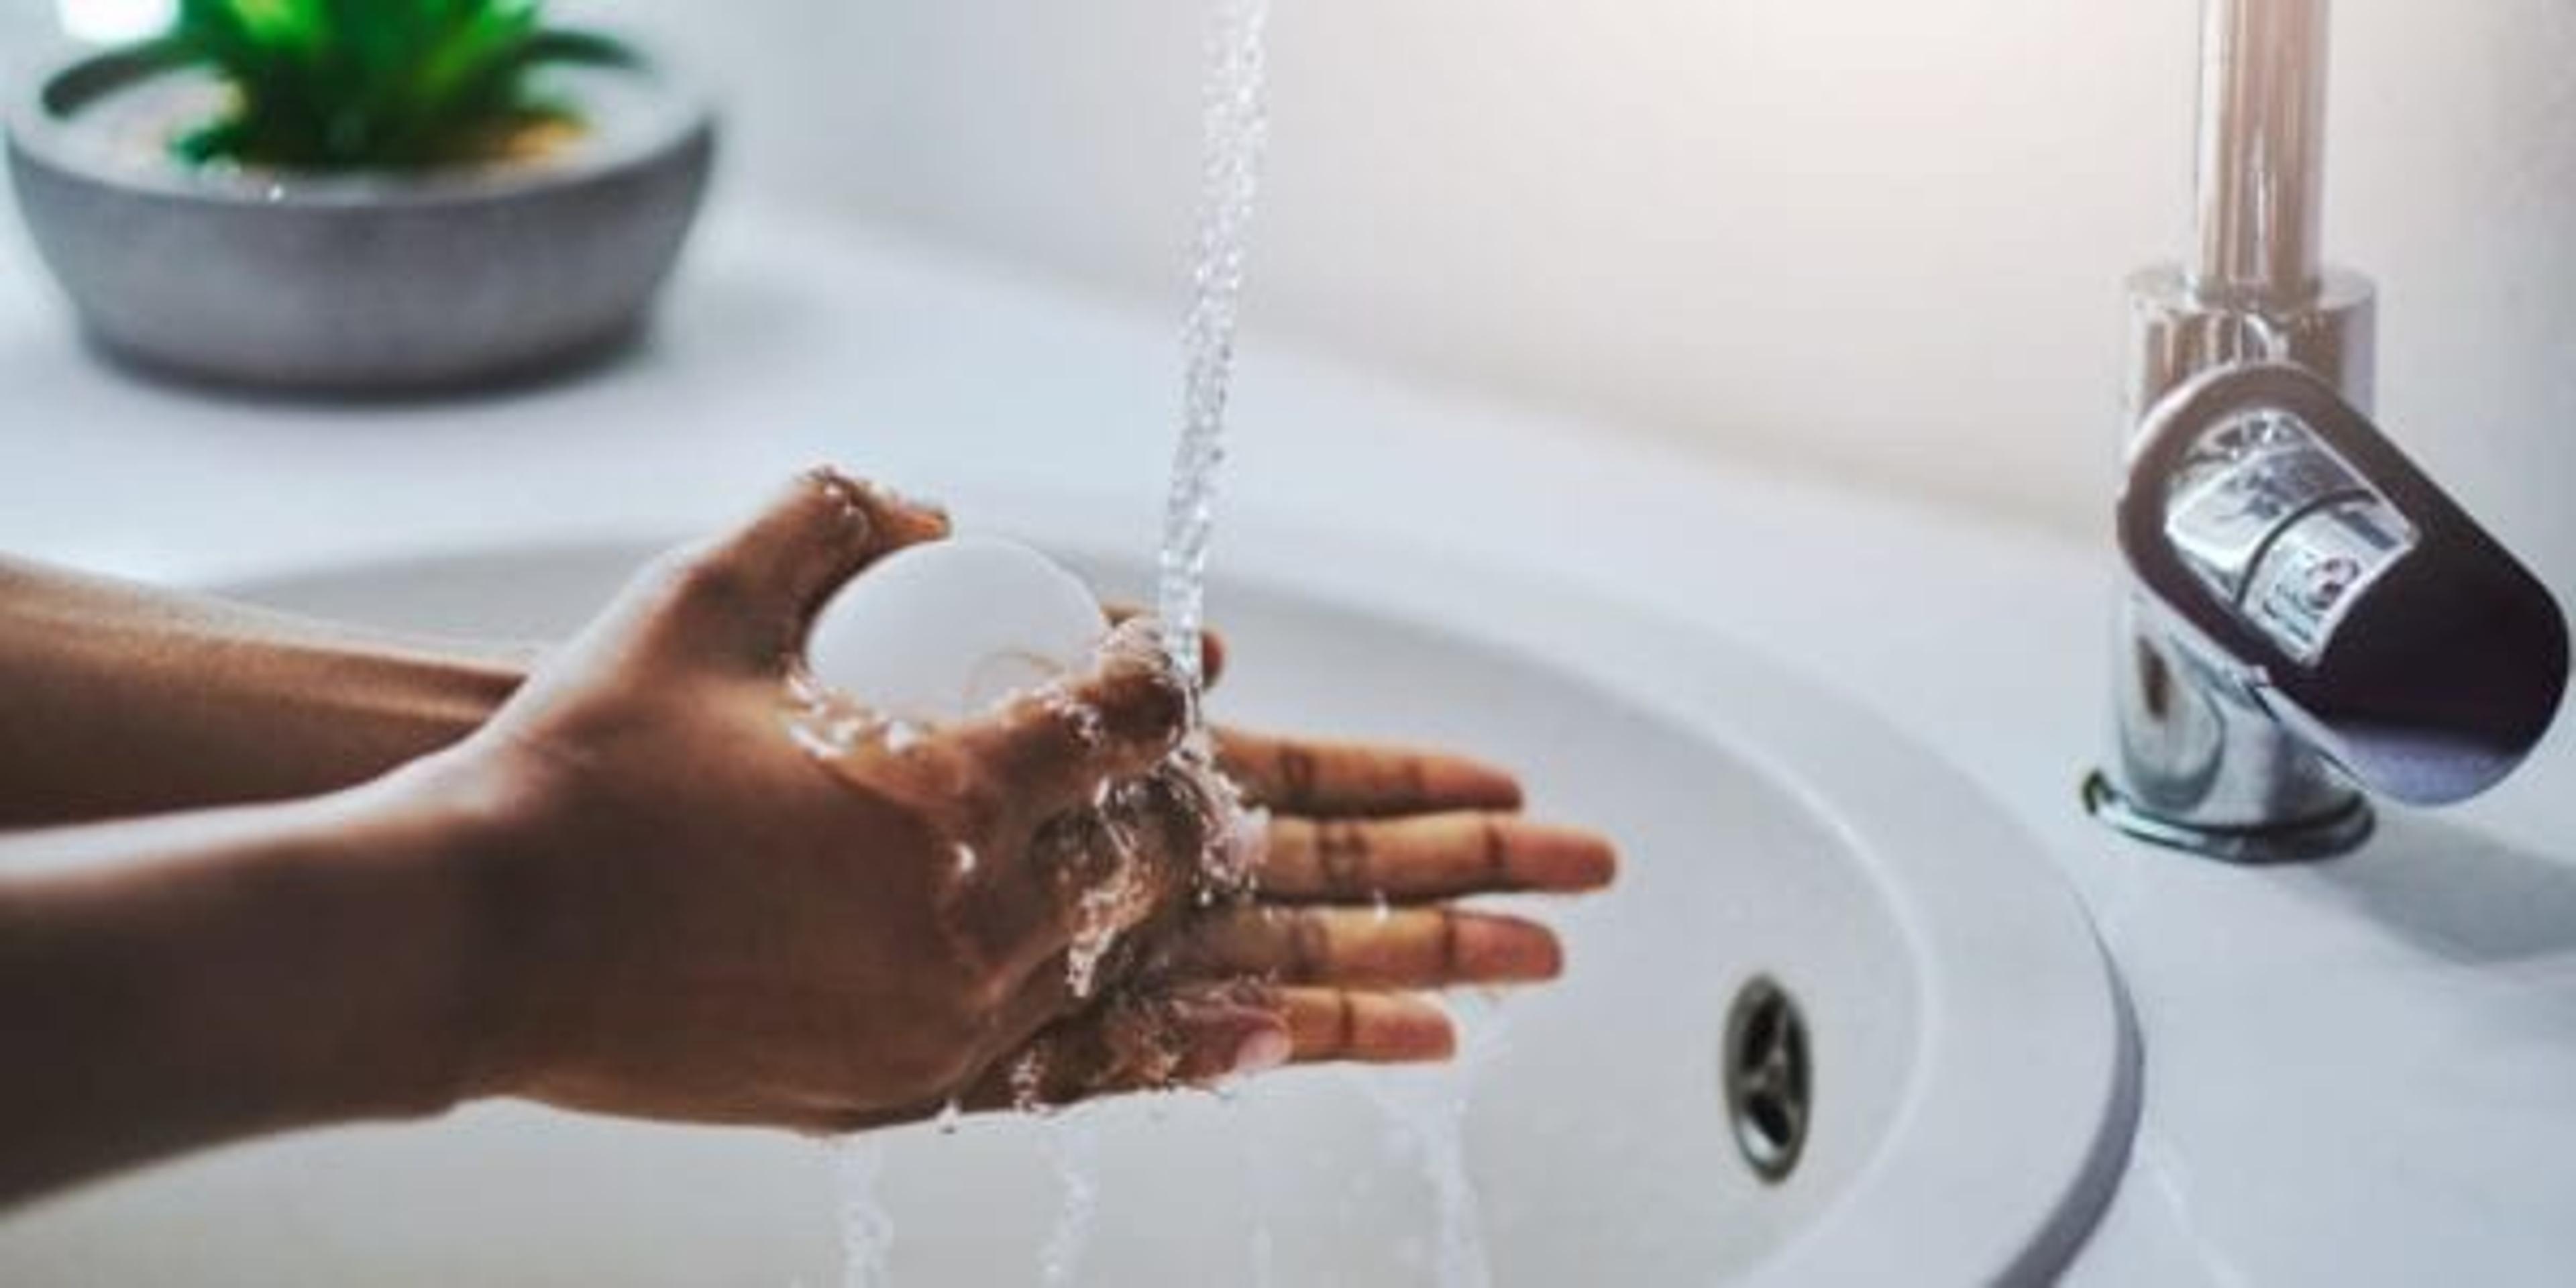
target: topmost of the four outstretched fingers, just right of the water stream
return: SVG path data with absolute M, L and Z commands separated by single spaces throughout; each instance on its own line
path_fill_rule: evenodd
M 1520 809 L 1520 781 L 1445 752 L 1216 732 L 1216 762 L 1252 804 L 1280 814 L 1388 817 Z

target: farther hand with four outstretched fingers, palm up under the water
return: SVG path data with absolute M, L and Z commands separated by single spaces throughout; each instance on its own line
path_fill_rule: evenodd
M 1206 665 L 1213 685 L 1216 634 Z M 1216 729 L 1216 768 L 1267 814 L 1244 896 L 1164 907 L 1115 953 L 1121 987 L 989 1069 L 966 1105 L 1224 1077 L 1182 1041 L 1190 1007 L 1278 1012 L 1301 1064 L 1445 1059 L 1455 1033 L 1419 989 L 1540 981 L 1564 963 L 1543 925 L 1455 902 L 1589 891 L 1618 868 L 1602 837 L 1522 819 L 1520 783 L 1458 755 Z

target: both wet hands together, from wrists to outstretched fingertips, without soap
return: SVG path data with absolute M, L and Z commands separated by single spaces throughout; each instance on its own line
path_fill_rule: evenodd
M 1605 845 L 1510 817 L 1517 786 L 1455 757 L 1221 732 L 1218 765 L 1273 819 L 1257 894 L 1211 891 L 1221 788 L 1175 757 L 1188 698 L 1154 649 L 1118 647 L 1133 626 L 1059 693 L 899 742 L 791 739 L 809 616 L 943 531 L 804 482 L 665 559 L 407 770 L 474 804 L 474 881 L 502 912 L 474 953 L 474 1090 L 845 1131 L 951 1100 L 1435 1059 L 1445 1015 L 1399 989 L 1556 974 L 1533 922 L 1376 907 L 1607 878 Z M 1131 894 L 1087 927 L 1118 878 Z M 1084 930 L 1121 933 L 1090 994 L 1069 958 Z

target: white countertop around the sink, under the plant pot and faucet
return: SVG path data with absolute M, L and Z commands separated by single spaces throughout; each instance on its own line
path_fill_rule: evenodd
M 260 402 L 98 363 L 0 232 L 0 549 L 209 580 L 677 536 L 819 459 L 1002 528 L 1012 497 L 1082 495 L 1131 513 L 1144 549 L 1172 322 L 719 206 L 665 322 L 611 371 L 392 410 Z M 2362 855 L 2223 868 L 2076 809 L 2105 716 L 2107 538 L 1677 456 L 1257 332 L 1226 500 L 1236 531 L 1332 526 L 1579 580 L 1963 762 L 2066 866 L 2146 1038 L 2143 1133 L 2079 1283 L 2553 1283 L 2576 1265 L 2566 729 L 2468 811 L 2383 811 Z

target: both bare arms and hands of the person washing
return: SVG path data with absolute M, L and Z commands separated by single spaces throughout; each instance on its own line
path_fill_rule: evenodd
M 1414 989 L 1556 974 L 1540 925 L 1450 899 L 1592 889 L 1605 842 L 1468 760 L 1221 732 L 1273 811 L 1257 894 L 1190 896 L 1213 814 L 1123 819 L 1164 878 L 1074 989 L 1082 884 L 1033 855 L 1103 788 L 1195 791 L 1151 649 L 1064 683 L 1097 742 L 1061 701 L 835 757 L 786 729 L 811 613 L 943 533 L 814 474 L 544 654 L 0 569 L 0 822 L 39 827 L 0 835 L 0 1018 L 36 1054 L 0 1061 L 0 1200 L 484 1095 L 850 1131 L 1437 1059 Z

